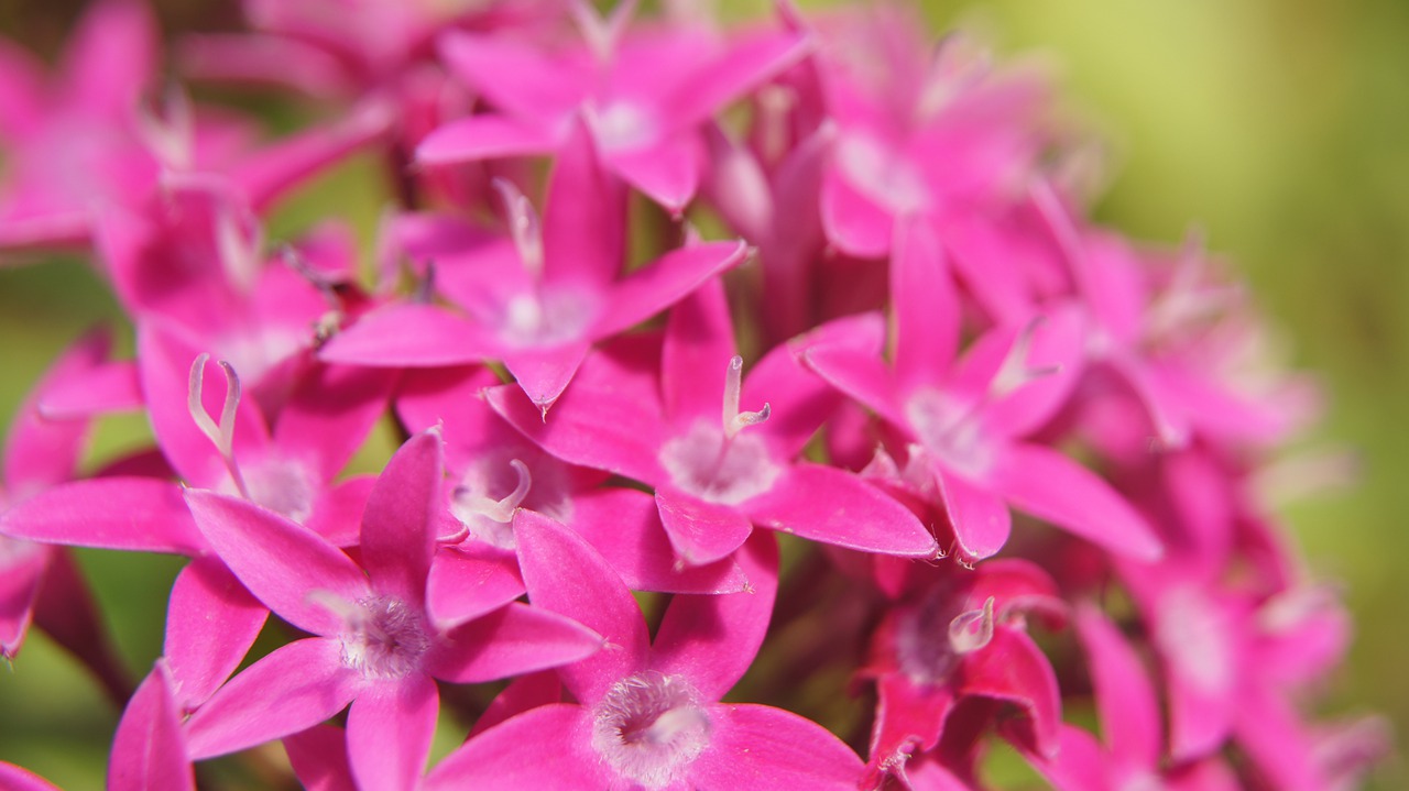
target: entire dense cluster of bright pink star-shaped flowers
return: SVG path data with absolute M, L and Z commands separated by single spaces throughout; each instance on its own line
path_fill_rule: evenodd
M 1196 239 L 1088 218 L 1041 73 L 889 6 L 451 6 L 180 39 L 337 110 L 273 142 L 152 99 L 137 0 L 54 76 L 0 48 L 0 249 L 83 251 L 135 336 L 54 363 L 0 490 L 0 649 L 123 707 L 110 788 L 276 740 L 376 791 L 954 791 L 999 740 L 1062 791 L 1355 781 L 1375 723 L 1303 714 L 1347 619 L 1260 494 L 1306 386 Z M 271 243 L 352 155 L 375 272 Z M 90 469 L 120 411 L 152 445 Z M 190 559 L 135 690 L 69 546 Z

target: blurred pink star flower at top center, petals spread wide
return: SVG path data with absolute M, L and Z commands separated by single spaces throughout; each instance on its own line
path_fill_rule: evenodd
M 441 58 L 496 111 L 437 129 L 417 162 L 554 153 L 582 114 L 606 167 L 679 215 L 704 170 L 700 125 L 806 53 L 790 32 L 726 41 L 700 25 L 631 28 L 634 1 L 607 20 L 586 3 L 576 8 L 583 42 L 575 48 L 445 35 Z

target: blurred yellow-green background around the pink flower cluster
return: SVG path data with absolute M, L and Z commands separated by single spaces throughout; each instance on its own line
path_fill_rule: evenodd
M 0 32 L 54 52 L 77 6 L 7 0 Z M 168 31 L 237 18 L 232 4 L 158 6 Z M 1317 372 L 1329 411 L 1313 445 L 1350 449 L 1363 466 L 1355 487 L 1285 510 L 1310 573 L 1343 583 L 1357 622 L 1324 709 L 1379 711 L 1409 730 L 1409 595 L 1395 593 L 1409 555 L 1398 522 L 1409 512 L 1409 3 L 986 0 L 929 3 L 926 15 L 936 31 L 978 24 L 1005 55 L 1047 55 L 1067 110 L 1116 152 L 1098 217 L 1162 242 L 1202 228 L 1251 281 L 1292 365 Z M 354 166 L 324 180 L 280 225 L 324 201 L 365 218 L 380 189 L 368 177 Z M 79 262 L 0 269 L 0 414 L 99 314 L 117 315 Z M 139 421 L 104 428 L 118 443 L 139 434 Z M 152 591 L 163 601 L 178 567 L 147 559 L 103 581 L 134 669 L 159 652 L 161 625 L 141 612 Z M 0 670 L 0 757 L 96 788 L 114 722 L 103 707 L 66 657 L 31 638 L 14 671 Z M 1391 760 L 1372 787 L 1409 787 L 1409 774 Z

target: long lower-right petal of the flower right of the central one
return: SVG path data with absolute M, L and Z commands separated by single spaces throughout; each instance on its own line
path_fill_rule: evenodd
M 1010 445 L 988 479 L 1017 508 L 1110 552 L 1140 560 L 1164 552 L 1150 524 L 1110 484 L 1057 450 Z

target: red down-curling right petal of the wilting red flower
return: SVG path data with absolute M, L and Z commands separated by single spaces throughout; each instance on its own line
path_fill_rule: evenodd
M 1037 753 L 1057 754 L 1061 691 L 1057 674 L 1026 632 L 999 628 L 981 652 L 964 663 L 964 694 L 1017 705 L 1027 714 L 1023 740 Z

